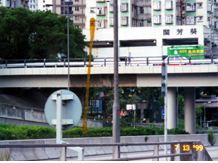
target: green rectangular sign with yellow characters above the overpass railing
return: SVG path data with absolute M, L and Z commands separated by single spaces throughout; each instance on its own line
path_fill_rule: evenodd
M 167 48 L 167 56 L 195 56 L 204 58 L 204 46 L 172 46 Z

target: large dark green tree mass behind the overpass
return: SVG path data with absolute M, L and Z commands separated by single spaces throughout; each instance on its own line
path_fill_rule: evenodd
M 24 7 L 0 7 L 0 58 L 54 58 L 67 54 L 67 17 L 56 13 L 31 12 Z M 85 36 L 69 23 L 70 57 L 86 57 Z

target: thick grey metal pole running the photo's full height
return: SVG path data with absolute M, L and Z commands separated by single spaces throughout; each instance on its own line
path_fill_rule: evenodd
M 114 6 L 114 104 L 113 104 L 113 143 L 120 142 L 120 104 L 118 94 L 118 3 L 113 2 Z M 120 158 L 120 147 L 113 147 L 113 158 Z

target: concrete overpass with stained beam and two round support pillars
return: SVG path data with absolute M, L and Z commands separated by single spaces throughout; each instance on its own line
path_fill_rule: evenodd
M 205 63 L 205 62 L 203 62 Z M 156 65 L 156 66 L 154 66 Z M 87 67 L 70 67 L 70 86 L 86 87 Z M 93 65 L 91 87 L 113 87 L 112 65 Z M 0 69 L 0 88 L 67 87 L 67 67 Z M 119 67 L 119 87 L 160 87 L 161 66 L 133 64 Z M 176 87 L 185 88 L 185 130 L 195 133 L 195 87 L 218 86 L 218 64 L 168 66 L 167 126 L 176 128 Z

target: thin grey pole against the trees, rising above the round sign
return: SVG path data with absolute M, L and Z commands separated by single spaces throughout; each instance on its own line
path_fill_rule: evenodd
M 69 47 L 69 4 L 67 5 L 67 58 L 68 58 L 68 87 L 70 90 L 70 47 Z

